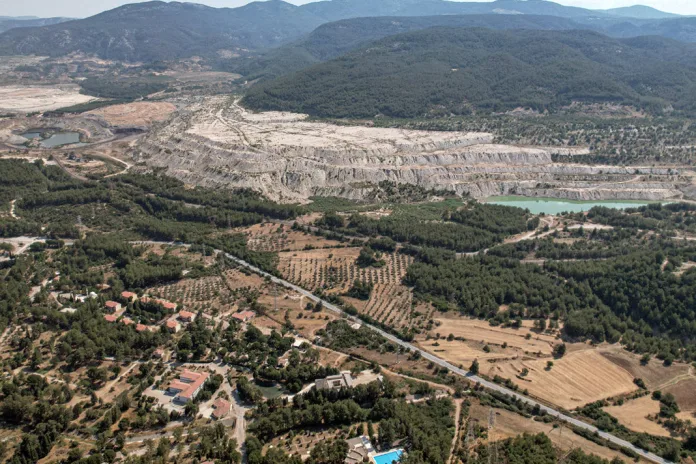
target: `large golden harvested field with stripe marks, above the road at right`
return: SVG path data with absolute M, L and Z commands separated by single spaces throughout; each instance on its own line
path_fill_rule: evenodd
M 482 366 L 482 372 L 491 377 L 513 380 L 521 389 L 535 397 L 565 409 L 612 396 L 627 394 L 637 389 L 633 376 L 602 356 L 597 350 L 576 351 L 554 360 L 550 370 L 548 359 L 517 360 Z M 521 377 L 523 369 L 529 373 Z

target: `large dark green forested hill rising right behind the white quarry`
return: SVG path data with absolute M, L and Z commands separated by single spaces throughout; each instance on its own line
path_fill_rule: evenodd
M 421 117 L 572 101 L 692 112 L 696 46 L 587 31 L 431 28 L 253 87 L 244 104 L 322 117 Z

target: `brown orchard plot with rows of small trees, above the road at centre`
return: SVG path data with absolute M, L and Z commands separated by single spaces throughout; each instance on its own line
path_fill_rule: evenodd
M 400 253 L 384 255 L 381 268 L 360 268 L 360 248 L 333 248 L 279 253 L 278 269 L 287 280 L 306 289 L 347 291 L 356 279 L 373 284 L 399 284 L 413 258 Z

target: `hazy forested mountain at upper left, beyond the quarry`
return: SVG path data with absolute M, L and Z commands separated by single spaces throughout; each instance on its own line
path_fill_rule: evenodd
M 168 60 L 277 46 L 324 22 L 278 0 L 240 8 L 146 2 L 83 20 L 12 29 L 0 35 L 0 55 L 61 56 L 80 51 L 124 61 Z

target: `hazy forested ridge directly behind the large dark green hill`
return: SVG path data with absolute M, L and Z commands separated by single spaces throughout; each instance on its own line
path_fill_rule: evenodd
M 324 24 L 306 38 L 268 52 L 232 61 L 228 70 L 249 80 L 269 79 L 337 58 L 368 42 L 430 27 L 484 27 L 488 29 L 585 29 L 570 19 L 535 15 L 443 15 L 354 18 Z

